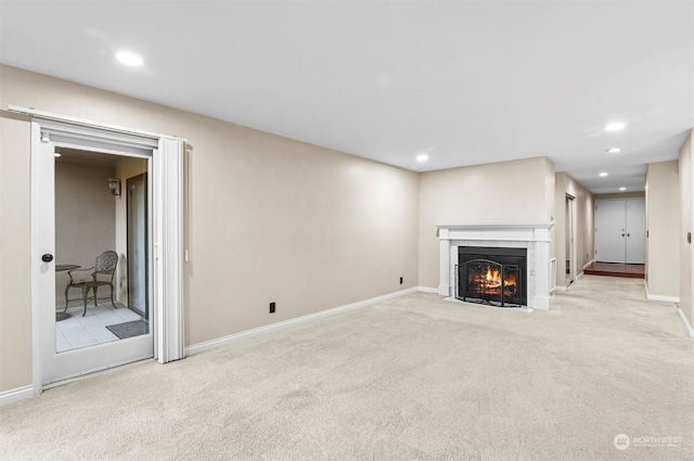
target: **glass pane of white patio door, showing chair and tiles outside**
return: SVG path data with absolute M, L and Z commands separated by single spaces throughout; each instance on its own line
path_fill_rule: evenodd
M 149 158 L 55 148 L 56 353 L 150 333 L 149 168 Z

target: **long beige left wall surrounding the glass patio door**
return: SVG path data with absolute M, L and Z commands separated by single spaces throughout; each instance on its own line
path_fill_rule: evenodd
M 417 285 L 415 172 L 0 66 L 8 104 L 189 140 L 187 345 Z M 0 120 L 1 392 L 31 382 L 31 318 L 29 124 Z

